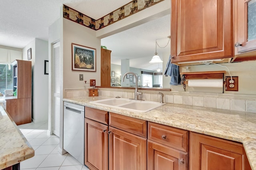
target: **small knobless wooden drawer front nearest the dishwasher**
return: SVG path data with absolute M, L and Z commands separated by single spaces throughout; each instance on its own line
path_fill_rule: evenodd
M 85 107 L 85 117 L 103 124 L 108 124 L 108 112 L 104 110 Z

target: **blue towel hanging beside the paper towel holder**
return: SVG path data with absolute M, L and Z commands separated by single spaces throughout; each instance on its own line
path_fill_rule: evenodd
M 165 76 L 171 76 L 170 85 L 180 85 L 180 70 L 179 66 L 171 63 L 171 56 L 166 64 L 166 69 L 164 71 Z

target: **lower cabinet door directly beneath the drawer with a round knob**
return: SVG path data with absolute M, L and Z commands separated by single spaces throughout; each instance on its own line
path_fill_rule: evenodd
M 148 170 L 187 170 L 188 154 L 148 140 Z

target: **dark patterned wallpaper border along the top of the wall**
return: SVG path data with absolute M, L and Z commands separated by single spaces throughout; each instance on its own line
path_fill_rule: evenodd
M 99 30 L 162 1 L 164 0 L 132 0 L 128 4 L 110 12 L 98 20 L 90 18 L 89 16 L 86 16 L 85 14 L 63 4 L 63 18 L 74 21 L 93 30 Z

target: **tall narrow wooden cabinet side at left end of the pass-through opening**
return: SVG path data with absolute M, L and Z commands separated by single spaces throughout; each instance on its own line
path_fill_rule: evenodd
M 100 86 L 110 87 L 110 50 L 101 48 Z

